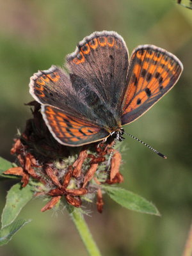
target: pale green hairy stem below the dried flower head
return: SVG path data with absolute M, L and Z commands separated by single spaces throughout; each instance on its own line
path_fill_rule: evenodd
M 74 221 L 74 224 L 76 225 L 79 235 L 89 255 L 101 256 L 99 252 L 99 248 L 97 247 L 97 244 L 93 240 L 93 237 L 92 237 L 92 234 L 90 233 L 88 225 L 86 225 L 86 222 L 84 221 L 81 209 L 77 209 L 75 207 L 71 207 L 70 205 L 67 205 L 67 210 L 70 213 L 70 216 L 72 217 L 72 221 Z

